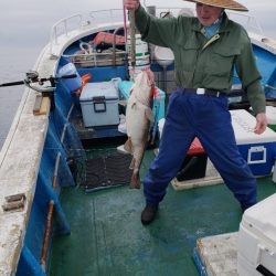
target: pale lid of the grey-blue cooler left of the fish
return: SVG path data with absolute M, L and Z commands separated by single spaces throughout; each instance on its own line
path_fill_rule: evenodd
M 118 91 L 114 81 L 100 83 L 87 83 L 81 94 L 81 102 L 91 102 L 94 97 L 105 97 L 109 99 L 118 99 Z

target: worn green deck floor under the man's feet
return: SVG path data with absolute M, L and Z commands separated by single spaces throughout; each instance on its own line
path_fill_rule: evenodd
M 141 177 L 153 158 L 147 151 Z M 276 192 L 270 178 L 258 181 L 259 200 Z M 193 276 L 199 237 L 238 230 L 242 213 L 224 184 L 174 191 L 171 185 L 157 220 L 142 226 L 142 190 L 128 187 L 61 194 L 71 235 L 53 240 L 49 275 Z

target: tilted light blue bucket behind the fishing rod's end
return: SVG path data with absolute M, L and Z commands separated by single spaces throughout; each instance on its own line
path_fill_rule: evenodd
M 73 74 L 76 74 L 76 77 L 62 79 L 63 84 L 70 92 L 74 92 L 82 86 L 82 77 L 77 73 L 73 63 L 67 63 L 59 70 L 60 77 Z

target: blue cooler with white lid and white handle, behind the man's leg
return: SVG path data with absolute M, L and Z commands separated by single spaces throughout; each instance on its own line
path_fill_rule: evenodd
M 238 150 L 253 174 L 270 174 L 276 157 L 276 132 L 267 127 L 264 134 L 256 135 L 256 118 L 253 115 L 244 109 L 230 113 Z

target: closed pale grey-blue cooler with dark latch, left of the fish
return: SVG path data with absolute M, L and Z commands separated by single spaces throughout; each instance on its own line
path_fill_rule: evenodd
M 119 124 L 119 96 L 115 81 L 87 83 L 79 102 L 85 127 Z

